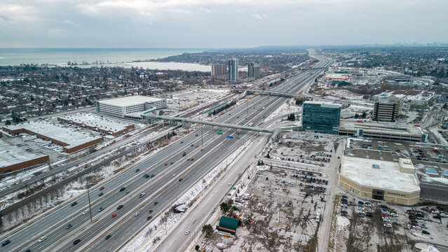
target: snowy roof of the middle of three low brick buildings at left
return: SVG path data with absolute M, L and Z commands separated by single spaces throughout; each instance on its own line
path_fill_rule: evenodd
M 67 148 L 73 148 L 81 144 L 86 144 L 95 139 L 101 139 L 102 137 L 96 137 L 88 132 L 79 131 L 72 127 L 65 127 L 59 123 L 50 123 L 46 120 L 28 121 L 27 123 L 21 123 L 18 125 L 6 126 L 9 130 L 26 129 L 37 134 L 61 141 L 67 144 Z

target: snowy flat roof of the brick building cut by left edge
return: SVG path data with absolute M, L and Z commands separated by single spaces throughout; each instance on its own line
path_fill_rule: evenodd
M 19 164 L 36 158 L 45 157 L 42 153 L 31 153 L 25 151 L 19 146 L 9 144 L 0 139 L 0 167 L 8 167 L 10 165 Z

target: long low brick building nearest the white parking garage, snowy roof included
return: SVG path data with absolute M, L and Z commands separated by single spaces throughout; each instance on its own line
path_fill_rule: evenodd
M 68 123 L 69 125 L 76 125 L 96 132 L 110 134 L 114 137 L 129 132 L 135 127 L 132 124 L 118 122 L 117 120 L 104 118 L 103 116 L 95 116 L 90 113 L 74 113 L 59 117 L 57 120 L 63 123 Z

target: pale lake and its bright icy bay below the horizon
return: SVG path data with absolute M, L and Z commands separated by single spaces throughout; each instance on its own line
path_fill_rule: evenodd
M 67 62 L 106 62 L 104 66 L 138 66 L 146 69 L 210 71 L 210 66 L 176 62 L 133 62 L 158 59 L 184 52 L 202 52 L 191 48 L 0 48 L 0 66 L 20 64 L 57 64 Z M 125 63 L 132 62 L 132 63 Z M 113 63 L 113 64 L 112 64 Z

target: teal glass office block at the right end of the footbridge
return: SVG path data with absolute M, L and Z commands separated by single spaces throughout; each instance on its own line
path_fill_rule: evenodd
M 341 105 L 330 102 L 304 102 L 302 129 L 308 132 L 337 134 L 341 122 Z

